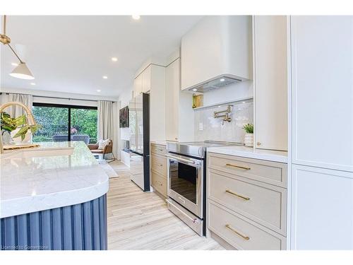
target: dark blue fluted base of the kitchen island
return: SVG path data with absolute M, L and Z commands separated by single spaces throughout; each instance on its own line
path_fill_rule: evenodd
M 107 194 L 83 204 L 1 218 L 1 249 L 107 249 Z

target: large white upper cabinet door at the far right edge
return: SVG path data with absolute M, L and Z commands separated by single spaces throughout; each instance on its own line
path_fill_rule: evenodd
M 292 162 L 353 171 L 353 17 L 293 16 Z

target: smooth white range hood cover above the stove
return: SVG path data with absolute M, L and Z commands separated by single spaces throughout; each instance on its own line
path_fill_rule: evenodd
M 181 90 L 220 76 L 252 78 L 251 16 L 206 16 L 181 39 Z

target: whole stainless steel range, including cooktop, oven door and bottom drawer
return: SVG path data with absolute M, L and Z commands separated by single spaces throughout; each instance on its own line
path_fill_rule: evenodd
M 234 144 L 237 145 L 215 141 L 167 143 L 168 208 L 198 235 L 205 235 L 206 149 Z

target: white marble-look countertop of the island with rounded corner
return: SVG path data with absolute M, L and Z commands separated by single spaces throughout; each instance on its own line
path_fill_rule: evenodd
M 0 218 L 91 201 L 109 177 L 82 141 L 39 143 L 0 155 Z

